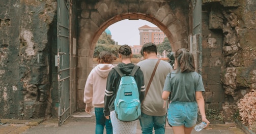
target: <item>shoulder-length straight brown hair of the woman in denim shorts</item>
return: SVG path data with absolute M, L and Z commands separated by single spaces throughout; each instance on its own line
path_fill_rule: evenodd
M 178 49 L 174 54 L 175 60 L 177 60 L 177 70 L 183 72 L 195 71 L 194 56 L 189 50 L 185 48 Z

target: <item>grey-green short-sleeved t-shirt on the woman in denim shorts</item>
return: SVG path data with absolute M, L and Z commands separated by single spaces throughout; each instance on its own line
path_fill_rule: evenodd
M 172 102 L 195 102 L 195 91 L 205 91 L 205 88 L 202 76 L 197 72 L 173 71 L 166 76 L 163 91 L 171 92 Z

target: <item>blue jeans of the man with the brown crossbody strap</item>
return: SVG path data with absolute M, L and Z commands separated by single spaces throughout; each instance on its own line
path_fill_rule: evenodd
M 139 119 L 141 130 L 143 134 L 152 134 L 153 127 L 155 134 L 164 134 L 165 125 L 165 115 L 164 116 L 150 116 L 141 112 L 141 117 Z

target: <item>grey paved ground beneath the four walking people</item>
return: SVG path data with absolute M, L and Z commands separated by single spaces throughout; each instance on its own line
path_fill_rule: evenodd
M 7 133 L 23 133 L 23 134 L 63 134 L 63 133 L 95 133 L 95 116 L 88 115 L 85 112 L 78 112 L 68 118 L 62 126 L 58 126 L 57 118 L 50 118 L 47 120 L 4 120 L 5 125 L 0 125 L 0 134 Z M 11 123 L 8 123 L 11 122 Z M 141 133 L 139 122 L 136 134 Z M 173 133 L 172 127 L 166 124 L 165 133 Z M 225 133 L 225 134 L 252 134 L 252 132 L 243 131 L 236 123 L 228 124 L 211 124 L 207 129 L 200 132 L 192 131 L 192 134 L 202 133 Z

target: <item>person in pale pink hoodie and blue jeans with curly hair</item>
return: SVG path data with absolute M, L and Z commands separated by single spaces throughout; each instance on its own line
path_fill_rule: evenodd
M 90 114 L 94 107 L 96 117 L 96 134 L 103 134 L 104 126 L 106 133 L 112 133 L 112 124 L 110 119 L 106 119 L 103 113 L 104 95 L 106 89 L 107 76 L 114 67 L 113 60 L 116 57 L 108 51 L 102 51 L 98 57 L 98 64 L 90 72 L 86 85 L 84 87 L 83 102 L 86 104 L 86 112 Z

